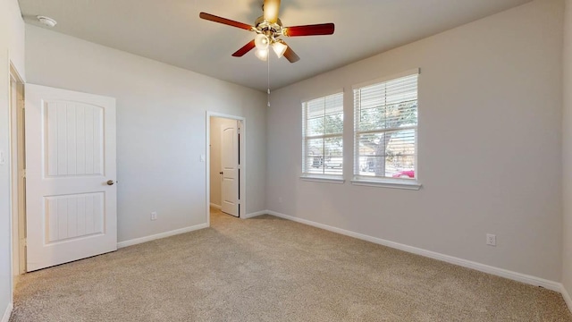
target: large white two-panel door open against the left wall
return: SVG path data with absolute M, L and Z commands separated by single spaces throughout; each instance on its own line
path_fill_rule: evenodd
M 117 250 L 115 98 L 26 85 L 27 270 Z

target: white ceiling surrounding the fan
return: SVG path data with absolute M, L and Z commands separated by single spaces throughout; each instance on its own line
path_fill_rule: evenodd
M 212 13 L 253 24 L 263 0 L 19 0 L 26 22 L 46 15 L 54 30 L 166 64 L 265 90 L 254 50 L 231 54 L 254 34 L 198 18 Z M 531 0 L 282 0 L 284 26 L 334 22 L 332 36 L 286 38 L 300 56 L 270 62 L 271 88 L 434 35 Z

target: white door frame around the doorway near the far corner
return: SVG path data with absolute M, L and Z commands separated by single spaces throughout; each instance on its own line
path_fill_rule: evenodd
M 211 225 L 211 118 L 220 117 L 225 119 L 231 119 L 240 121 L 240 172 L 239 172 L 239 189 L 240 189 L 240 199 L 239 199 L 239 214 L 240 218 L 246 216 L 247 210 L 247 119 L 242 116 L 223 114 L 218 112 L 206 111 L 206 225 L 210 227 Z

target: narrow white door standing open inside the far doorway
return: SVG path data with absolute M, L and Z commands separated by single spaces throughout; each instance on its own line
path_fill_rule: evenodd
M 239 127 L 238 121 L 225 123 L 222 128 L 221 160 L 223 168 L 223 212 L 239 216 Z

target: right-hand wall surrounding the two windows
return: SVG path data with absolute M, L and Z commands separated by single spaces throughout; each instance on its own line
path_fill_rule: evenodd
M 268 208 L 559 281 L 562 9 L 536 0 L 275 90 Z M 353 186 L 351 86 L 416 67 L 423 188 Z M 347 181 L 301 181 L 300 100 L 342 88 Z

